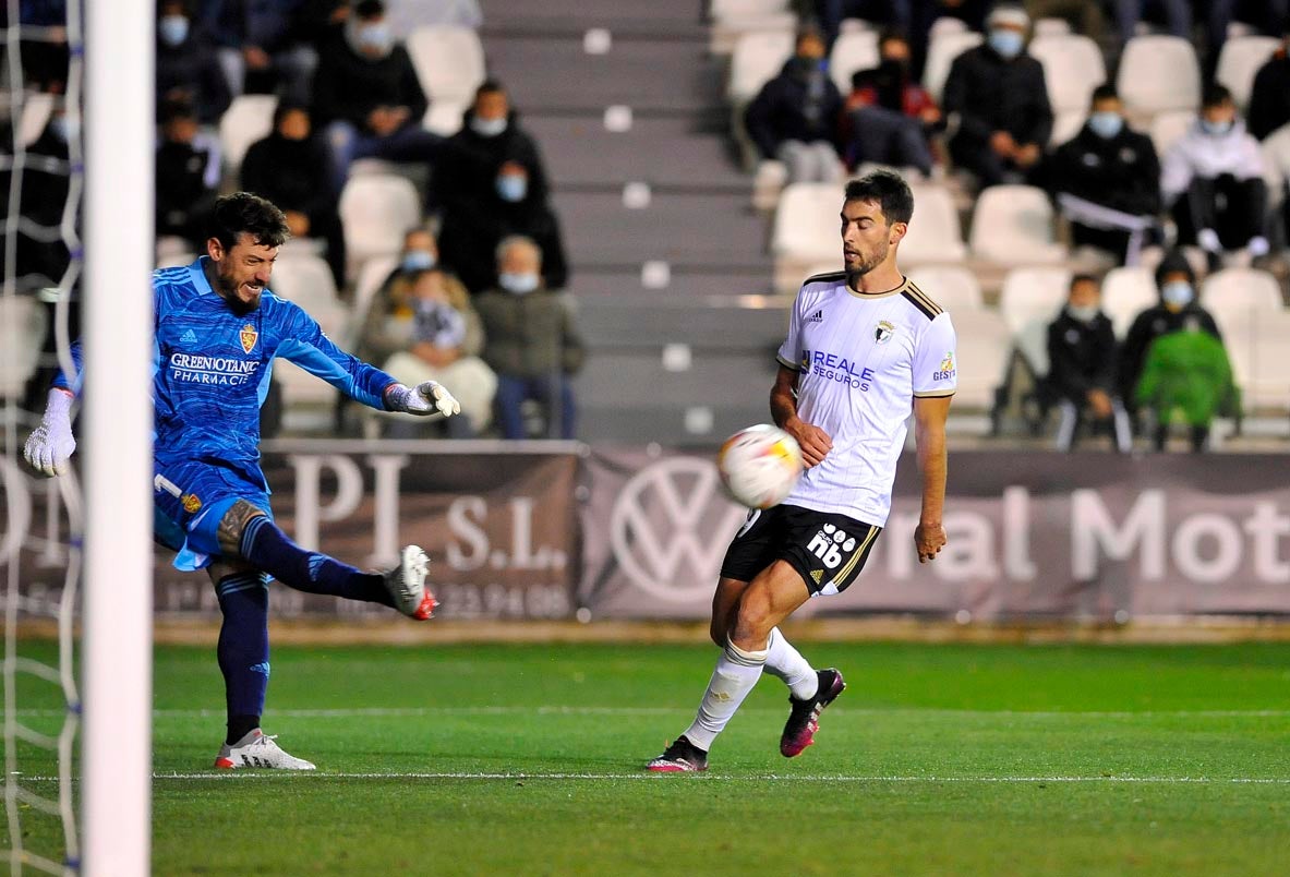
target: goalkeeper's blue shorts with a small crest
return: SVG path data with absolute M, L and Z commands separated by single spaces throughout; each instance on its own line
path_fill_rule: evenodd
M 268 486 L 239 469 L 183 462 L 159 467 L 154 480 L 154 539 L 177 552 L 174 567 L 184 571 L 210 566 L 219 548 L 219 521 L 239 499 L 273 518 Z

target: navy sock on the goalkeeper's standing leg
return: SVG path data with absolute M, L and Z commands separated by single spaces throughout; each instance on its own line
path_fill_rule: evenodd
M 215 584 L 224 623 L 219 672 L 224 675 L 230 745 L 259 727 L 268 689 L 268 587 L 255 573 L 226 575 Z

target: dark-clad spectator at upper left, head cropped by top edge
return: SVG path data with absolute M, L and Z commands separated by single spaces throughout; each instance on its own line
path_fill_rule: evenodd
M 233 94 L 277 92 L 307 103 L 317 52 L 307 41 L 308 0 L 201 0 L 197 23 L 219 46 Z

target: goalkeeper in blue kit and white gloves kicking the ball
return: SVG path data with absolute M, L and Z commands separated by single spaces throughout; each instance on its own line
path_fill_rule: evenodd
M 418 620 L 436 601 L 426 587 L 428 557 L 417 546 L 396 569 L 362 573 L 306 551 L 273 524 L 259 467 L 259 406 L 275 357 L 290 360 L 343 393 L 387 411 L 459 413 L 442 386 L 405 387 L 344 351 L 304 311 L 268 289 L 273 261 L 289 236 L 283 212 L 262 197 L 219 199 L 206 255 L 152 275 L 155 531 L 177 552 L 175 567 L 205 569 L 223 626 L 228 733 L 215 767 L 313 770 L 264 735 L 259 718 L 268 687 L 268 579 L 297 591 L 392 606 Z M 76 448 L 71 406 L 77 374 L 58 375 L 41 424 L 23 454 L 45 475 L 61 475 Z

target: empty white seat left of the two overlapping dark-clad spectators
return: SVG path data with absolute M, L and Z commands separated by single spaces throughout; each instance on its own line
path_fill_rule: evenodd
M 374 255 L 402 246 L 404 232 L 421 222 L 417 187 L 393 174 L 350 177 L 341 192 L 341 222 L 351 275 Z

